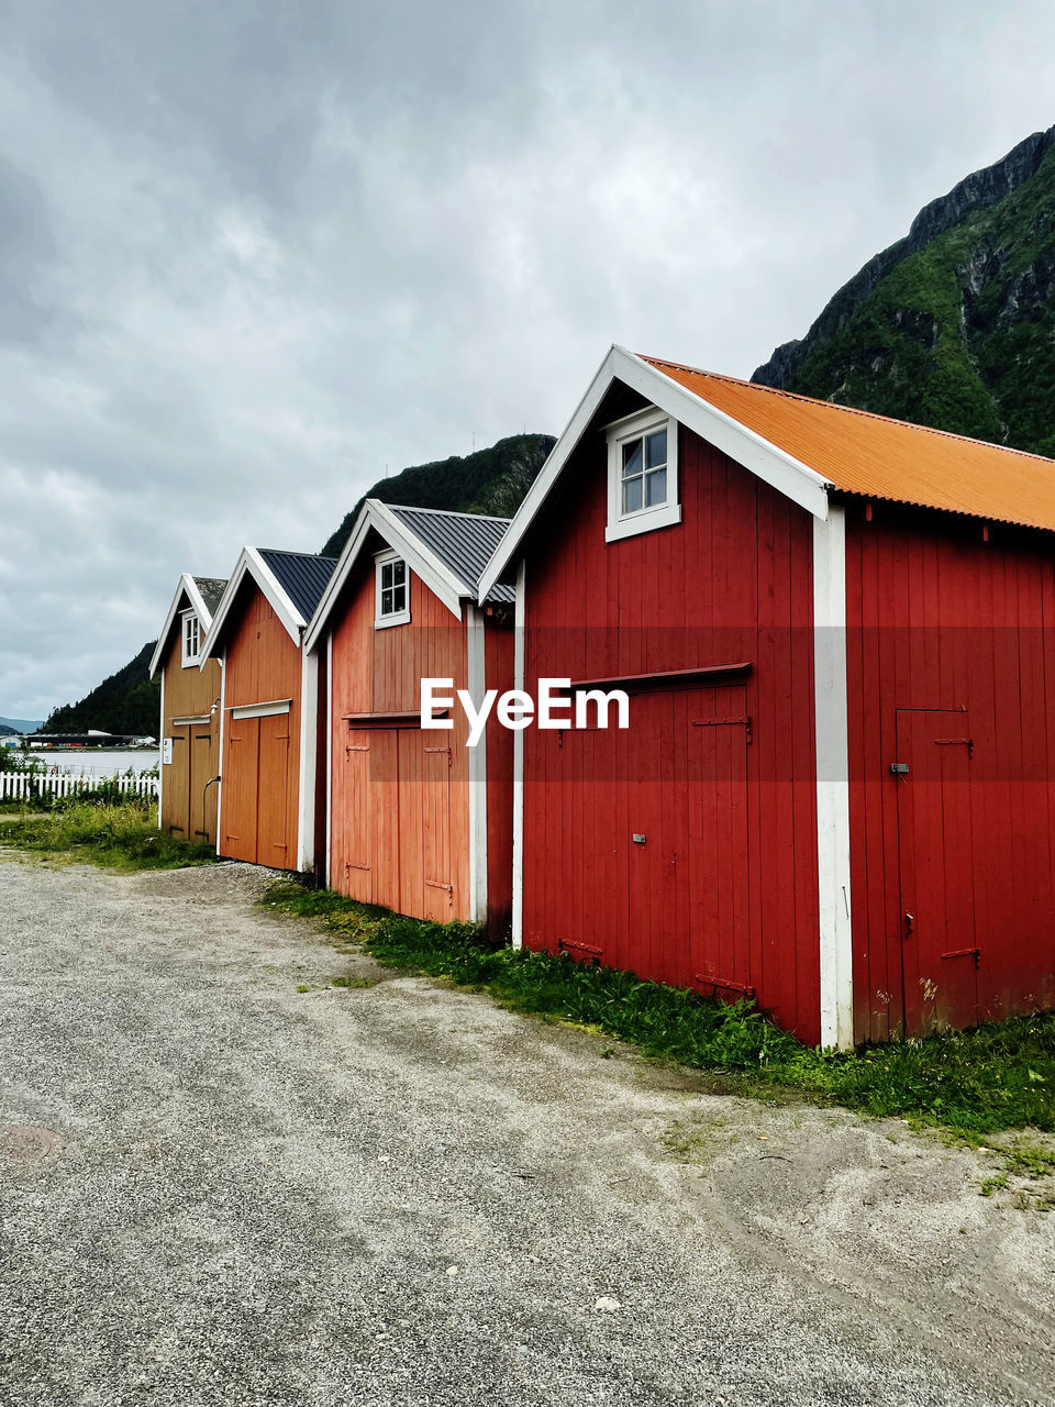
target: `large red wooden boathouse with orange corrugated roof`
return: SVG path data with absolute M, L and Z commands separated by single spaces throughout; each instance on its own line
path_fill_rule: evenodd
M 809 1043 L 1055 1005 L 1055 464 L 613 348 L 481 578 L 513 937 Z

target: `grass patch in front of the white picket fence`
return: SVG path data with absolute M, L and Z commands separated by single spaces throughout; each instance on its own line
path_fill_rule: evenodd
M 176 870 L 217 858 L 210 844 L 158 830 L 158 808 L 134 801 L 72 801 L 45 816 L 27 813 L 0 826 L 0 846 L 115 870 Z

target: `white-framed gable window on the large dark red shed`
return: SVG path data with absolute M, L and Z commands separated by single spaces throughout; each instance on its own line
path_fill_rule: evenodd
M 679 522 L 678 422 L 653 407 L 609 425 L 605 540 Z

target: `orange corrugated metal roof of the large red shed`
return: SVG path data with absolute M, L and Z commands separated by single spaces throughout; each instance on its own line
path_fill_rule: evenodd
M 1055 530 L 1055 460 L 658 357 L 641 360 L 843 492 Z

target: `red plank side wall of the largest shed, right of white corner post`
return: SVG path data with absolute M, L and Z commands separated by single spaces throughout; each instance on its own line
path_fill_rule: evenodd
M 847 509 L 857 1040 L 1055 1006 L 1055 564 L 990 539 Z

